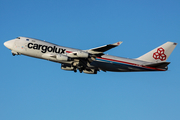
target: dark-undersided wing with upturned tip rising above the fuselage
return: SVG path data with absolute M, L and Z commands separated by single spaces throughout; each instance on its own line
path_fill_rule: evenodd
M 89 49 L 89 50 L 86 50 L 88 53 L 91 53 L 91 54 L 101 54 L 105 51 L 108 51 L 114 47 L 117 47 L 119 46 L 120 44 L 122 43 L 122 41 L 119 41 L 117 43 L 114 43 L 114 44 L 108 44 L 108 45 L 104 45 L 104 46 L 100 46 L 100 47 L 97 47 L 97 48 L 92 48 L 92 49 Z

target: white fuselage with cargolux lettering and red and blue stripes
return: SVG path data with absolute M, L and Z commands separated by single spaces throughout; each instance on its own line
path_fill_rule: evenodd
M 46 41 L 32 39 L 27 37 L 20 37 L 4 43 L 4 45 L 12 50 L 13 54 L 23 54 L 40 59 L 46 59 L 53 62 L 69 64 L 71 65 L 74 60 L 57 60 L 55 55 L 68 56 L 68 54 L 78 51 L 80 49 L 73 49 L 68 47 L 59 46 Z M 122 57 L 116 57 L 111 55 L 102 55 L 96 57 L 94 61 L 87 65 L 91 69 L 99 69 L 103 71 L 115 71 L 115 72 L 128 72 L 128 71 L 165 71 L 166 69 L 147 67 L 145 64 L 148 62 L 127 59 Z M 150 64 L 150 63 L 149 63 Z

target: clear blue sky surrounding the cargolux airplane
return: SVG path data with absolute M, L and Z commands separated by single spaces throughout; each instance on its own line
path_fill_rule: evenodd
M 179 120 L 179 45 L 166 72 L 88 75 L 11 55 L 18 36 L 90 49 L 123 41 L 107 54 L 136 58 L 180 43 L 179 0 L 1 0 L 1 120 Z

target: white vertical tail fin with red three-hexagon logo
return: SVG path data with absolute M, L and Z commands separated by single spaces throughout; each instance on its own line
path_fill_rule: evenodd
M 140 56 L 137 60 L 153 63 L 166 62 L 176 45 L 177 43 L 174 42 L 166 42 L 152 51 Z

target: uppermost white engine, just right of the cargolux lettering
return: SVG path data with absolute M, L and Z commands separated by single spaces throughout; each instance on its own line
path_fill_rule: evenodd
M 69 53 L 68 56 L 72 58 L 88 58 L 89 53 L 84 51 L 77 51 L 77 52 Z

